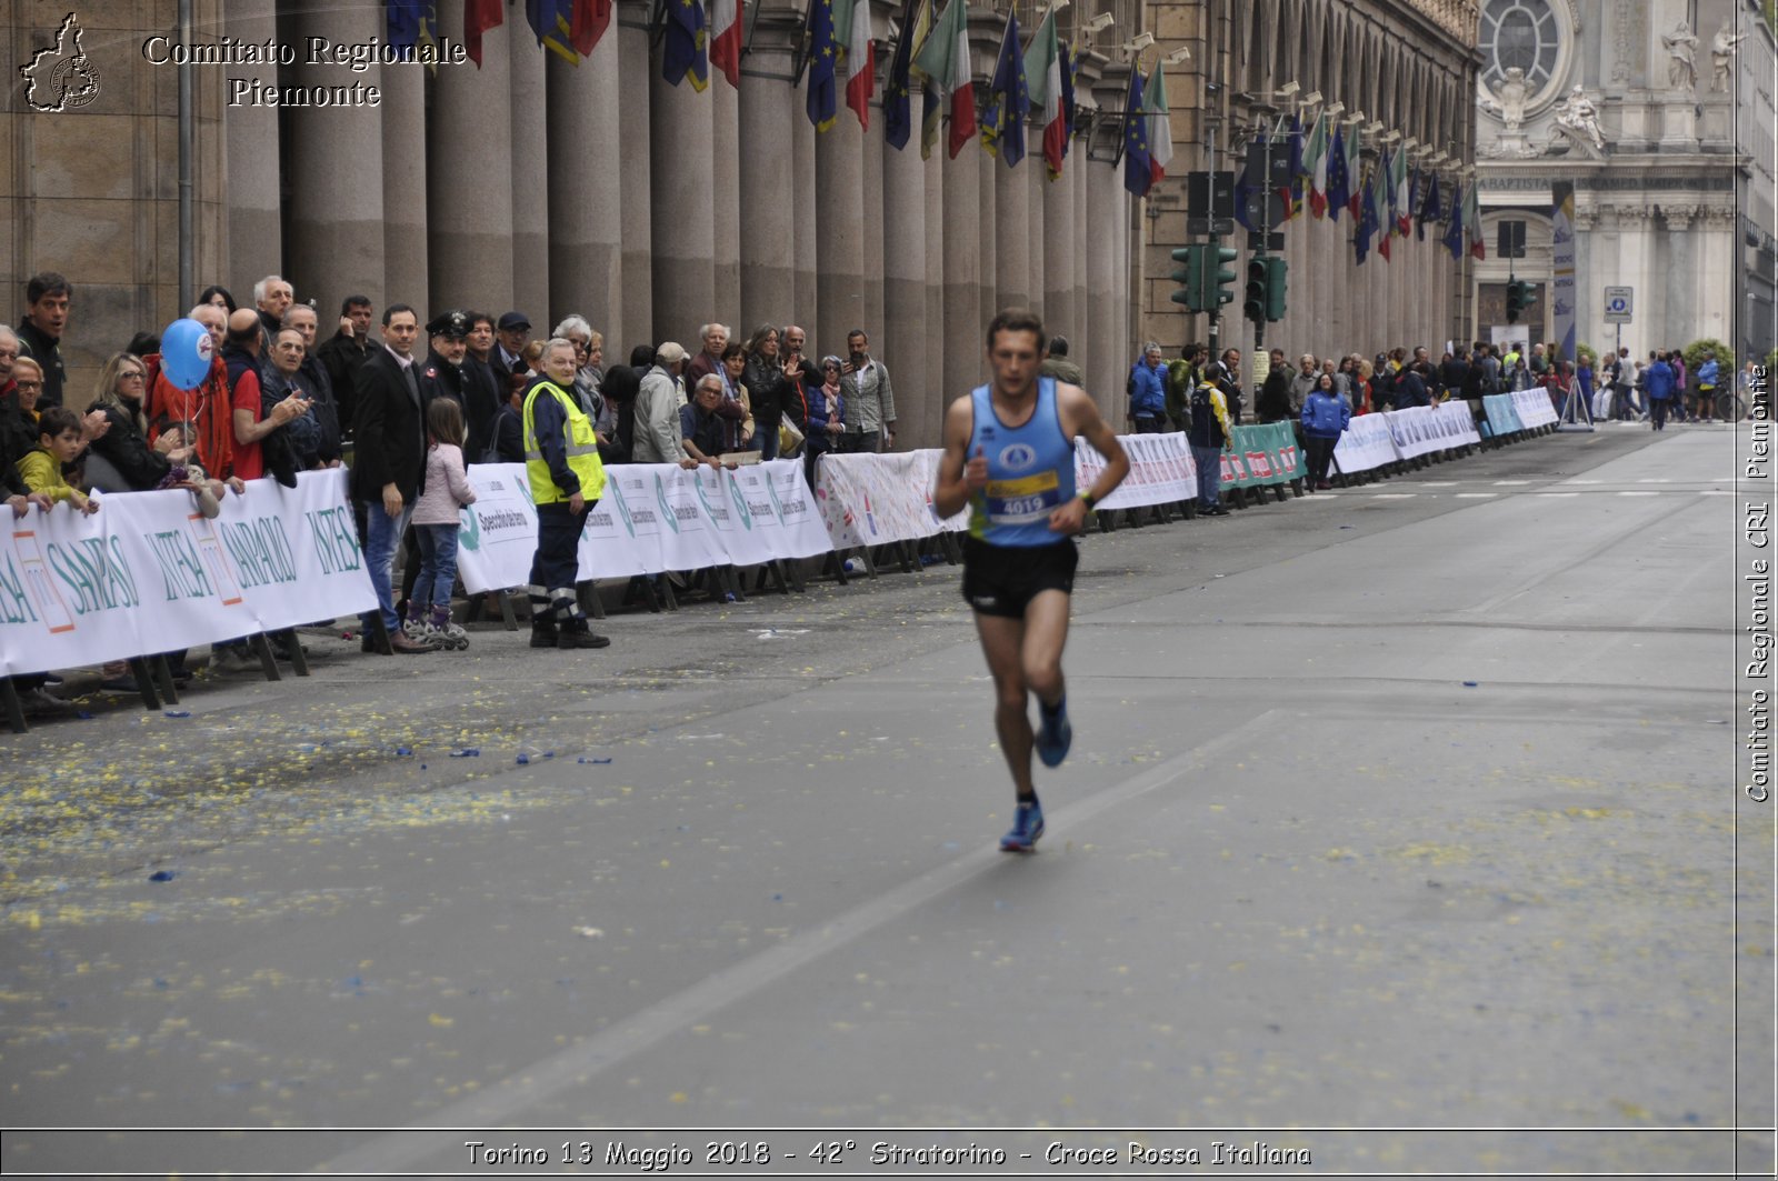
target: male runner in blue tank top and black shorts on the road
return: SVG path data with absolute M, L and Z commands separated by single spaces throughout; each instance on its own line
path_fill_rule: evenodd
M 941 518 L 969 505 L 964 598 L 994 674 L 994 729 L 1012 768 L 1017 807 L 1006 852 L 1031 852 L 1044 834 L 1044 809 L 1031 786 L 1031 747 L 1044 767 L 1069 754 L 1061 647 L 1074 592 L 1074 534 L 1086 512 L 1129 475 L 1129 457 L 1079 386 L 1038 377 L 1044 322 L 1008 309 L 989 324 L 994 381 L 957 398 L 944 413 L 944 457 L 933 509 Z M 1106 457 L 1090 489 L 1076 494 L 1074 439 Z M 1035 740 L 1026 694 L 1037 694 Z

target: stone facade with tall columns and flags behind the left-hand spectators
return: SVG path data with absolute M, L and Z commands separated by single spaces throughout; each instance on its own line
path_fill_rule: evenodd
M 34 110 L 18 75 L 0 128 L 9 233 L 0 285 L 9 317 L 23 281 L 60 270 L 75 285 L 64 352 L 84 402 L 105 356 L 137 329 L 183 315 L 178 290 L 174 0 L 69 0 L 98 75 L 78 108 Z M 464 39 L 464 0 L 439 0 L 441 50 Z M 0 18 L 9 60 L 55 44 L 68 5 L 28 0 Z M 1076 36 L 1099 12 L 1111 28 Z M 1136 201 L 1115 167 L 1136 0 L 1061 12 L 1079 46 L 1076 135 L 1049 180 L 1033 116 L 1015 169 L 980 141 L 932 158 L 916 139 L 884 142 L 882 94 L 901 5 L 875 0 L 877 98 L 869 128 L 843 105 L 816 133 L 798 84 L 805 5 L 743 7 L 740 87 L 715 69 L 706 91 L 661 78 L 645 0 L 617 0 L 612 27 L 578 66 L 539 48 L 525 5 L 482 41 L 482 62 L 341 62 L 340 46 L 388 39 L 380 0 L 197 0 L 194 43 L 228 60 L 196 84 L 194 286 L 288 277 L 315 299 L 324 334 L 340 301 L 423 315 L 517 308 L 535 333 L 578 311 L 608 363 L 637 343 L 697 347 L 699 325 L 797 322 L 811 349 L 843 350 L 862 327 L 891 368 L 901 445 L 939 441 L 944 404 L 985 379 L 983 329 L 1024 304 L 1072 341 L 1093 393 L 1124 418 L 1138 334 L 1127 293 Z M 1019 12 L 1026 34 L 1037 12 Z M 978 108 L 1005 7 L 971 12 Z M 324 39 L 336 57 L 315 60 Z M 176 39 L 174 39 L 176 41 Z M 276 53 L 254 53 L 272 46 Z M 270 57 L 270 60 L 267 60 Z M 308 105 L 267 92 L 309 87 Z M 356 87 L 356 89 L 354 89 Z M 361 101 L 375 87 L 377 101 Z M 313 92 L 340 101 L 322 107 Z M 352 89 L 359 101 L 350 101 Z M 919 96 L 914 96 L 917 119 Z

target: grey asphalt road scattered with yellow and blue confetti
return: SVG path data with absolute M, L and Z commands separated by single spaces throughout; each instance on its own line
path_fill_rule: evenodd
M 12 1131 L 4 1170 L 542 1176 L 594 1129 L 830 1128 L 685 1133 L 676 1170 L 1106 1176 L 1044 1156 L 1140 1138 L 1769 1174 L 1734 461 L 1614 427 L 1086 539 L 1031 857 L 946 566 L 596 653 L 316 633 L 306 681 L 0 736 L 4 1122 L 364 1129 Z

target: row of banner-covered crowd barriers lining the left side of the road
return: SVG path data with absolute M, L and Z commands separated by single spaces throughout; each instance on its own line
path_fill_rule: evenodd
M 1550 425 L 1542 390 L 1483 398 L 1490 434 Z M 1118 436 L 1131 477 L 1101 512 L 1191 502 L 1197 468 L 1184 434 Z M 1366 414 L 1341 436 L 1342 473 L 1479 443 L 1465 402 Z M 713 566 L 759 566 L 830 551 L 923 541 L 967 526 L 932 507 L 939 450 L 823 455 L 816 487 L 804 464 L 781 459 L 734 471 L 674 464 L 608 470 L 589 514 L 581 580 Z M 1301 477 L 1291 423 L 1234 429 L 1225 487 L 1278 486 Z M 1076 480 L 1088 487 L 1104 459 L 1076 445 Z M 462 510 L 459 573 L 471 594 L 530 582 L 537 510 L 525 464 L 473 464 L 477 502 Z M 128 660 L 313 619 L 370 610 L 347 473 L 302 473 L 297 487 L 252 480 L 206 519 L 188 493 L 98 496 L 101 510 L 28 512 L 0 530 L 0 674 Z

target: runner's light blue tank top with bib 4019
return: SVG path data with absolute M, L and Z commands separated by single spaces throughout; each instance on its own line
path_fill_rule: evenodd
M 994 413 L 989 386 L 971 395 L 973 459 L 981 448 L 989 484 L 969 500 L 969 535 L 990 546 L 1053 546 L 1049 514 L 1074 500 L 1074 443 L 1061 432 L 1056 379 L 1037 379 L 1037 409 L 1022 427 L 1008 427 Z

